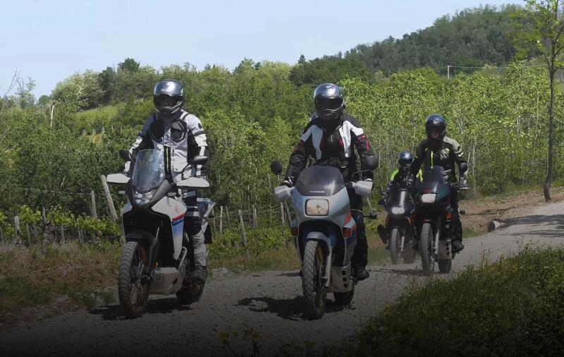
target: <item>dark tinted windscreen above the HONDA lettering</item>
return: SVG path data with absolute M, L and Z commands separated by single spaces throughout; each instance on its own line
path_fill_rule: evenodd
M 295 188 L 305 196 L 331 196 L 345 187 L 343 175 L 336 167 L 312 166 L 298 176 Z

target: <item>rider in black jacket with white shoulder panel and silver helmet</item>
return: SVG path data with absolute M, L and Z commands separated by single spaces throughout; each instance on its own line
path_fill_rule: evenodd
M 338 85 L 323 83 L 314 90 L 315 114 L 305 127 L 302 137 L 290 156 L 286 177 L 282 185 L 292 187 L 300 172 L 310 165 L 336 167 L 341 171 L 345 182 L 353 181 L 353 174 L 358 171 L 356 148 L 360 159 L 374 156 L 362 126 L 357 119 L 343 111 L 345 98 Z M 361 161 L 362 162 L 362 161 Z M 364 170 L 364 165 L 361 164 Z M 362 179 L 372 181 L 372 171 L 362 172 Z M 362 214 L 362 198 L 355 190 L 348 188 L 350 213 L 357 223 L 357 246 L 351 259 L 353 272 L 359 280 L 369 277 L 366 270 L 368 245 Z

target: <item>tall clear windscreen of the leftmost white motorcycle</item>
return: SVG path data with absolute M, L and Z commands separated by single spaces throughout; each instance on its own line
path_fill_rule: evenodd
M 164 155 L 160 150 L 142 150 L 137 154 L 131 183 L 139 193 L 159 187 L 164 180 Z

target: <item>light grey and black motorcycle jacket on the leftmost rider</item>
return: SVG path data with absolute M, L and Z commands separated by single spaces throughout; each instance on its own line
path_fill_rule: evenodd
M 173 182 L 207 175 L 209 160 L 205 164 L 190 164 L 190 159 L 196 155 L 209 157 L 200 119 L 184 110 L 166 119 L 157 119 L 157 115 L 149 116 L 137 135 L 129 150 L 131 162 L 135 162 L 137 152 L 156 149 L 164 153 L 165 174 L 171 176 Z

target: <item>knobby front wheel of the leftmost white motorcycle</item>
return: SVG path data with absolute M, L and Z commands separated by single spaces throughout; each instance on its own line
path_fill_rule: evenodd
M 138 242 L 125 244 L 119 266 L 118 296 L 128 317 L 140 317 L 147 307 L 148 270 L 147 249 Z

